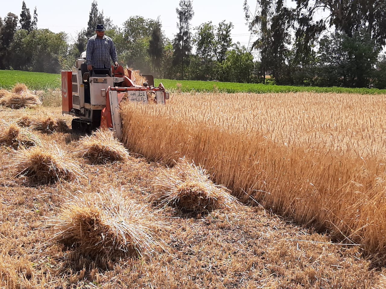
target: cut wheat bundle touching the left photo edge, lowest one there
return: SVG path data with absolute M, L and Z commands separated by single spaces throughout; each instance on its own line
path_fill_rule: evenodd
M 41 144 L 40 138 L 29 129 L 20 128 L 15 123 L 3 124 L 0 127 L 0 145 L 17 150 L 20 147 L 29 148 L 38 144 Z

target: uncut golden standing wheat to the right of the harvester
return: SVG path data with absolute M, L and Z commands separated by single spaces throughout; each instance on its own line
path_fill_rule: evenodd
M 386 256 L 385 95 L 176 94 L 122 107 L 125 145 L 186 156 L 240 200 Z

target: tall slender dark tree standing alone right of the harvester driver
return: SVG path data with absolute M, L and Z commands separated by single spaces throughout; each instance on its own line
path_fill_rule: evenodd
M 180 0 L 176 12 L 178 15 L 178 33 L 173 41 L 173 65 L 181 65 L 181 79 L 184 79 L 184 65 L 188 63 L 188 57 L 192 50 L 190 21 L 194 12 L 191 0 Z

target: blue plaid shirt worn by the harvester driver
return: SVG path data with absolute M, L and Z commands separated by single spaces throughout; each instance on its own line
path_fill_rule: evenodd
M 95 34 L 88 39 L 86 48 L 87 65 L 91 64 L 95 68 L 110 68 L 110 57 L 113 62 L 118 62 L 117 50 L 110 37 L 103 35 L 103 38 L 100 39 Z

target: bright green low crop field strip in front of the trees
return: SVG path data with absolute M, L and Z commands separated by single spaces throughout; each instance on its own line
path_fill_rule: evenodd
M 26 72 L 0 70 L 0 88 L 11 89 L 17 82 L 26 84 L 30 89 L 59 88 L 60 74 L 42 72 Z M 278 86 L 235 82 L 215 81 L 181 81 L 170 79 L 155 79 L 156 85 L 162 82 L 169 91 L 182 92 L 253 92 L 253 93 L 284 93 L 284 92 L 328 92 L 356 94 L 386 94 L 386 89 L 344 88 L 344 87 L 312 87 L 312 86 Z

